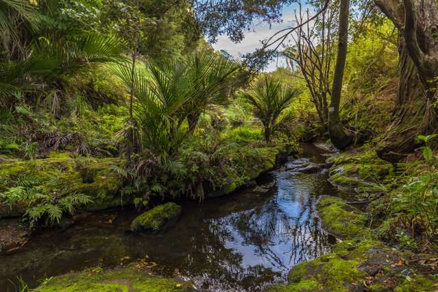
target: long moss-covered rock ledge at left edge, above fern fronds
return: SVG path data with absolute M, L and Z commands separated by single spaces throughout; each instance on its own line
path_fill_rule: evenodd
M 83 193 L 93 201 L 84 206 L 88 210 L 129 204 L 119 195 L 121 179 L 114 171 L 121 163 L 118 158 L 84 158 L 69 153 L 51 153 L 45 159 L 0 163 L 0 218 L 19 217 L 29 207 L 25 197 L 14 200 L 14 204 L 8 202 L 5 196 L 1 197 L 1 193 L 17 186 L 25 190 L 33 188 L 43 194 L 60 191 Z

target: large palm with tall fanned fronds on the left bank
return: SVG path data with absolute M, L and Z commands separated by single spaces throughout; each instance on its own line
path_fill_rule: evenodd
M 137 67 L 134 74 L 122 65 L 114 72 L 126 93 L 134 93 L 134 118 L 142 130 L 143 147 L 172 158 L 200 114 L 226 103 L 230 77 L 238 69 L 233 60 L 207 49 L 193 53 L 186 62 L 151 62 L 147 69 Z

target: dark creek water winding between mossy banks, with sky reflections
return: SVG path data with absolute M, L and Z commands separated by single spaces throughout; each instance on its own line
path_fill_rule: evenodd
M 325 159 L 311 145 L 304 157 Z M 330 251 L 315 204 L 320 195 L 343 195 L 324 172 L 294 171 L 302 162 L 290 158 L 266 175 L 261 183 L 275 182 L 268 190 L 182 203 L 182 217 L 163 234 L 126 232 L 138 215 L 126 208 L 78 215 L 66 230 L 32 234 L 19 252 L 0 256 L 0 291 L 14 291 L 10 280 L 17 277 L 36 287 L 43 278 L 138 259 L 156 273 L 178 275 L 209 291 L 259 291 L 284 282 L 291 267 Z

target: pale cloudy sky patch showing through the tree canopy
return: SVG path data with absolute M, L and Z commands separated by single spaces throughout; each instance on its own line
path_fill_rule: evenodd
M 262 47 L 260 40 L 269 38 L 280 29 L 294 26 L 293 19 L 294 10 L 296 7 L 296 4 L 291 4 L 282 9 L 282 23 L 273 23 L 271 27 L 269 27 L 269 24 L 267 23 L 254 24 L 253 29 L 249 32 L 246 32 L 245 38 L 239 43 L 234 43 L 228 38 L 228 36 L 222 35 L 219 36 L 217 42 L 212 44 L 212 46 L 217 50 L 223 49 L 227 51 L 235 58 L 239 58 L 239 56 L 245 53 L 250 53 L 256 48 Z M 267 67 L 266 71 L 275 71 L 278 66 L 284 65 L 285 61 L 279 58 L 273 60 L 273 62 L 271 62 Z

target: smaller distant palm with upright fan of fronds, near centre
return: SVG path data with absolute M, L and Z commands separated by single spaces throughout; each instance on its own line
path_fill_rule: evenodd
M 240 93 L 254 111 L 254 116 L 263 124 L 265 141 L 271 141 L 271 134 L 292 119 L 291 112 L 285 113 L 299 91 L 282 84 L 279 80 L 264 75 L 247 91 Z

